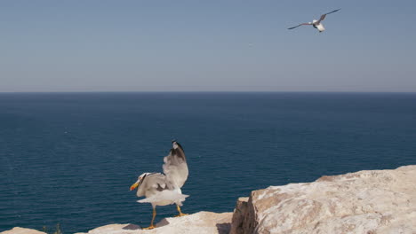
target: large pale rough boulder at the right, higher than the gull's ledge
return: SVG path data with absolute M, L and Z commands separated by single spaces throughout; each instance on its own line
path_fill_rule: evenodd
M 416 233 L 416 166 L 323 176 L 239 199 L 235 233 Z

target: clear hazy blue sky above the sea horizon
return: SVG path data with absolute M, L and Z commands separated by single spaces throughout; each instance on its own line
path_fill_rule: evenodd
M 287 30 L 342 8 L 313 27 Z M 416 91 L 416 1 L 0 2 L 0 91 Z

